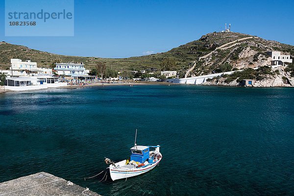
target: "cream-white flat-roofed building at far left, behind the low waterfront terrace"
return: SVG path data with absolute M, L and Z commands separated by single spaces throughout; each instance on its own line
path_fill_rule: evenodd
M 42 74 L 52 74 L 52 70 L 49 68 L 38 68 L 36 62 L 31 62 L 30 60 L 22 61 L 21 59 L 12 58 L 10 59 L 11 66 L 10 72 L 7 74 L 11 76 L 33 76 L 38 73 Z

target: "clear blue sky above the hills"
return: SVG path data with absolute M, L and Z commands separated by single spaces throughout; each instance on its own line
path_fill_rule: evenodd
M 74 0 L 73 37 L 5 37 L 4 5 L 0 0 L 0 41 L 64 55 L 164 52 L 225 23 L 235 32 L 294 45 L 294 0 Z

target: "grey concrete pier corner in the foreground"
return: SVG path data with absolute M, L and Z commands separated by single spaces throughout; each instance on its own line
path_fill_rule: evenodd
M 0 196 L 100 196 L 46 172 L 0 183 Z

